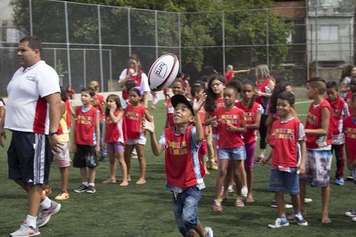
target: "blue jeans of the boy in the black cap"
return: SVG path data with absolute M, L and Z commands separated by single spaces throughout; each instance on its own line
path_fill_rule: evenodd
M 182 193 L 173 193 L 173 211 L 179 232 L 188 236 L 199 221 L 197 217 L 201 191 L 196 187 L 185 189 Z

